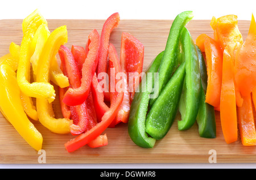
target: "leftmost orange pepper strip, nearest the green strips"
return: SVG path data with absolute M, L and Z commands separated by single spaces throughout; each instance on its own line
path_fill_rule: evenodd
M 207 65 L 207 93 L 205 102 L 217 108 L 220 106 L 221 80 L 222 80 L 222 58 L 223 52 L 220 45 L 207 35 L 197 37 L 196 43 L 202 52 L 205 52 Z M 204 46 L 204 51 L 202 50 Z

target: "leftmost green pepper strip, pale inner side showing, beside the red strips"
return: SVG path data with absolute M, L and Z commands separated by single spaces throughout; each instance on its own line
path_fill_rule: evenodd
M 156 139 L 148 136 L 148 134 L 146 133 L 145 122 L 149 106 L 148 104 L 150 100 L 150 94 L 152 92 L 152 88 L 157 86 L 157 84 L 155 84 L 155 80 L 147 77 L 149 74 L 155 75 L 155 72 L 158 72 L 158 68 L 163 58 L 163 54 L 164 52 L 161 52 L 156 56 L 154 61 L 152 61 L 151 65 L 148 66 L 146 74 L 142 77 L 139 88 L 142 88 L 144 86 L 147 88 L 146 91 L 136 92 L 133 98 L 133 102 L 131 102 L 131 109 L 128 121 L 129 136 L 135 144 L 143 148 L 152 148 L 154 147 L 156 142 Z M 154 76 L 152 75 L 151 77 Z M 144 82 L 146 83 L 144 84 Z

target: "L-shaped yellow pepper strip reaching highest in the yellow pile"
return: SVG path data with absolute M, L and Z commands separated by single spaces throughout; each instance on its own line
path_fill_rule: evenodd
M 31 17 L 30 17 L 31 16 Z M 19 55 L 19 65 L 17 70 L 17 81 L 20 90 L 26 96 L 37 97 L 37 98 L 47 98 L 49 102 L 55 99 L 55 90 L 53 85 L 48 82 L 33 82 L 30 83 L 30 57 L 32 56 L 32 51 L 30 48 L 32 38 L 41 24 L 47 24 L 46 20 L 43 18 L 39 12 L 34 12 L 30 15 L 28 19 L 23 20 L 24 24 L 27 24 L 27 28 L 23 28 L 23 38 L 20 45 L 20 55 Z

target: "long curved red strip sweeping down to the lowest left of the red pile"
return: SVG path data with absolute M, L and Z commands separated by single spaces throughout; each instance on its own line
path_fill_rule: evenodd
M 117 54 L 115 52 L 114 46 L 112 44 L 109 45 L 109 61 L 113 61 L 113 65 L 120 66 L 117 58 Z M 120 67 L 115 67 L 115 70 L 120 69 Z M 118 73 L 116 71 L 116 73 Z M 121 79 L 122 81 L 122 79 Z M 115 82 L 115 83 L 119 83 Z M 104 132 L 106 128 L 114 121 L 115 115 L 117 115 L 118 107 L 121 105 L 123 101 L 123 92 L 110 92 L 110 108 L 103 115 L 101 122 L 97 123 L 96 126 L 92 127 L 90 130 L 76 136 L 75 139 L 69 140 L 69 142 L 65 143 L 65 148 L 68 152 L 73 152 L 79 149 L 80 147 L 88 144 L 93 139 L 96 139 L 98 136 Z

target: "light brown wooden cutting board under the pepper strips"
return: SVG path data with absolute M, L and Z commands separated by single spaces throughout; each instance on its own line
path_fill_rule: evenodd
M 85 46 L 92 29 L 101 32 L 105 20 L 48 20 L 49 30 L 67 25 L 68 43 Z M 121 33 L 128 32 L 137 37 L 144 45 L 144 66 L 146 70 L 152 59 L 166 45 L 172 20 L 122 20 L 114 29 L 110 42 L 115 45 L 118 55 L 121 44 Z M 249 30 L 249 21 L 240 21 L 238 26 L 245 39 Z M 9 53 L 12 41 L 20 45 L 22 40 L 22 20 L 0 20 L 0 55 Z M 194 40 L 206 33 L 213 37 L 210 20 L 192 20 L 187 28 Z M 56 89 L 57 93 L 57 89 Z M 57 97 L 57 96 L 56 96 Z M 62 117 L 59 99 L 53 102 L 56 117 Z M 108 128 L 109 144 L 100 148 L 84 146 L 75 152 L 68 153 L 64 143 L 74 138 L 71 134 L 54 134 L 32 121 L 43 135 L 43 149 L 46 152 L 47 164 L 104 164 L 104 163 L 208 163 L 212 151 L 216 152 L 216 162 L 256 162 L 256 147 L 245 147 L 240 137 L 237 142 L 226 144 L 220 125 L 220 114 L 216 112 L 217 138 L 200 138 L 197 124 L 187 131 L 177 130 L 176 121 L 168 134 L 156 142 L 152 149 L 144 149 L 135 145 L 127 132 L 127 124 L 119 124 Z M 13 126 L 0 115 L 0 163 L 1 164 L 38 164 L 40 154 L 30 147 L 15 131 Z

